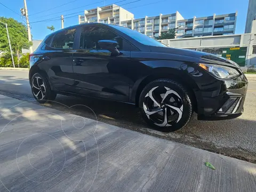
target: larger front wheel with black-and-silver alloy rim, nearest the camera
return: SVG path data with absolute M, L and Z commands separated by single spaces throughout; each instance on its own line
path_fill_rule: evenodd
M 142 118 L 158 131 L 171 132 L 185 126 L 193 113 L 189 92 L 171 79 L 156 79 L 142 90 Z

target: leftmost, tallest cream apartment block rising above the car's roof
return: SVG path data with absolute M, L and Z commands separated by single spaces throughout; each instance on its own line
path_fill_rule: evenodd
M 121 21 L 131 20 L 134 15 L 122 7 L 112 4 L 85 10 L 84 15 L 79 15 L 79 24 L 86 22 L 101 22 L 113 25 L 121 25 Z

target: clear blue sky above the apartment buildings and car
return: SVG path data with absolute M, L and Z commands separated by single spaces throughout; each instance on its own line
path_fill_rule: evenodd
M 61 28 L 61 14 L 64 15 L 64 27 L 69 27 L 78 24 L 78 15 L 83 14 L 84 10 L 113 3 L 121 5 L 124 9 L 132 12 L 135 19 L 143 18 L 145 15 L 152 17 L 160 13 L 170 14 L 176 11 L 179 11 L 184 19 L 193 18 L 194 15 L 199 18 L 210 16 L 214 13 L 226 14 L 235 13 L 237 11 L 235 33 L 243 34 L 248 2 L 249 0 L 27 0 L 27 7 L 33 39 L 42 40 L 46 35 L 51 33 L 51 31 L 47 29 L 47 26 L 53 25 L 55 30 Z M 0 3 L 15 12 L 12 12 L 0 4 L 0 17 L 14 18 L 19 22 L 26 23 L 25 17 L 20 16 L 20 9 L 24 7 L 23 0 L 0 0 Z M 65 5 L 60 6 L 62 4 Z M 37 22 L 46 19 L 52 19 L 53 21 Z

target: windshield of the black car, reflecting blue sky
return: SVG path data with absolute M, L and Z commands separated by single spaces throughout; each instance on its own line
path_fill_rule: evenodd
M 110 25 L 110 26 L 116 28 L 117 30 L 123 32 L 124 34 L 132 37 L 133 39 L 135 39 L 136 41 L 144 45 L 167 47 L 166 45 L 156 41 L 153 38 L 148 37 L 147 35 L 141 34 L 138 31 L 121 27 L 121 26 L 116 26 L 116 25 Z

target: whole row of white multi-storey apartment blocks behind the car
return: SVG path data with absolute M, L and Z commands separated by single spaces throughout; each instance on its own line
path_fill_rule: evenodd
M 108 10 L 108 14 L 102 14 L 103 10 Z M 115 17 L 113 17 L 115 11 L 118 12 L 119 17 L 117 22 L 115 21 Z M 178 28 L 175 38 L 235 34 L 237 17 L 236 12 L 222 15 L 213 14 L 212 16 L 202 18 L 194 17 L 191 19 L 184 19 L 182 15 L 176 11 L 172 14 L 160 14 L 155 17 L 146 16 L 145 18 L 133 19 L 132 13 L 114 4 L 101 8 L 98 7 L 97 9 L 93 9 L 93 12 L 95 12 L 94 15 L 99 16 L 95 17 L 93 15 L 94 19 L 91 20 L 91 10 L 85 11 L 85 15 L 79 15 L 79 23 L 103 21 L 103 23 L 120 25 L 137 30 L 149 37 L 158 37 L 159 34 L 165 33 L 169 29 Z

